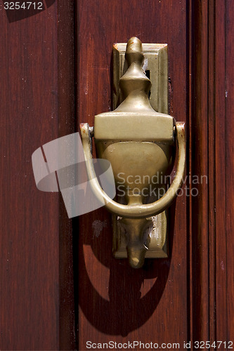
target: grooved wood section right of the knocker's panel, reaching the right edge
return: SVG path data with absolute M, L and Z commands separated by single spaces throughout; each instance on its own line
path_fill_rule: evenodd
M 193 338 L 212 342 L 233 340 L 231 15 L 230 1 L 193 5 L 192 165 L 194 172 L 208 176 L 191 203 Z

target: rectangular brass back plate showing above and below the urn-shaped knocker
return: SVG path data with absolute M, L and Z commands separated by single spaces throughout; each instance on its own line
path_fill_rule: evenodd
M 145 60 L 143 69 L 152 83 L 150 104 L 157 112 L 168 113 L 168 58 L 167 44 L 142 44 Z M 113 110 L 124 100 L 119 89 L 119 79 L 126 72 L 126 43 L 113 46 Z M 112 215 L 113 255 L 126 258 L 126 237 L 119 225 L 117 216 Z M 148 251 L 145 258 L 168 257 L 168 220 L 167 211 L 152 217 L 152 229 L 146 233 Z

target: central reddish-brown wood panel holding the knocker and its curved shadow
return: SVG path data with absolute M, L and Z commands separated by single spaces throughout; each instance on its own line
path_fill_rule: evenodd
M 133 35 L 168 44 L 170 113 L 186 121 L 186 1 L 79 1 L 77 24 L 79 122 L 93 125 L 95 114 L 111 109 L 112 44 Z M 182 344 L 188 337 L 186 197 L 170 211 L 170 258 L 147 260 L 141 270 L 112 258 L 111 215 L 104 208 L 81 216 L 78 225 L 79 350 L 87 340 Z

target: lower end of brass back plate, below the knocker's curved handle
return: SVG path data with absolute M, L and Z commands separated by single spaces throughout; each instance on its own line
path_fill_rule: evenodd
M 152 227 L 149 230 L 148 251 L 145 258 L 167 258 L 168 257 L 168 218 L 164 211 L 152 218 Z M 121 227 L 118 217 L 112 215 L 113 226 L 113 256 L 115 258 L 127 258 L 126 236 L 124 228 Z

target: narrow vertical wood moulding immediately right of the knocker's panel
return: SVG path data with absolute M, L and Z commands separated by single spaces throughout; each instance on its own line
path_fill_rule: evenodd
M 208 168 L 208 4 L 193 1 L 192 173 L 207 176 Z M 195 185 L 196 186 L 196 185 Z M 209 340 L 209 211 L 208 187 L 197 184 L 192 198 L 193 338 Z

